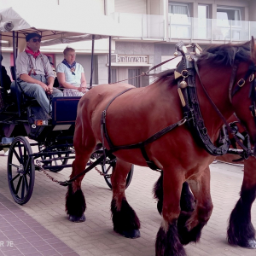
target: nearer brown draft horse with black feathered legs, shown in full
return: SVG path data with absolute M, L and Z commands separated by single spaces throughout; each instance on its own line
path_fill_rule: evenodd
M 219 111 L 228 119 L 232 113 L 246 126 L 252 143 L 256 140 L 256 126 L 249 111 L 251 100 L 248 98 L 250 83 L 229 99 L 230 77 L 234 60 L 239 61 L 232 90 L 237 82 L 245 77 L 249 67 L 256 63 L 256 49 L 253 41 L 250 45 L 219 45 L 207 49 L 198 59 L 201 81 L 196 75 L 201 114 L 207 132 L 215 142 L 218 131 L 223 125 L 218 113 L 212 108 L 205 91 L 216 104 Z M 114 96 L 127 88 L 129 84 L 103 84 L 87 92 L 79 102 L 78 117 L 74 134 L 76 157 L 73 161 L 71 177 L 84 170 L 90 154 L 98 143 L 102 143 L 102 111 Z M 113 145 L 128 145 L 145 141 L 155 132 L 183 119 L 181 102 L 177 94 L 177 81 L 174 71 L 161 73 L 154 82 L 144 88 L 132 89 L 117 97 L 107 111 L 107 129 Z M 106 148 L 109 148 L 106 137 Z M 146 146 L 148 158 L 154 161 L 163 172 L 163 207 L 162 222 L 156 236 L 155 254 L 186 255 L 183 244 L 198 241 L 201 230 L 212 213 L 210 195 L 209 164 L 214 156 L 197 143 L 186 124 L 166 133 Z M 140 222 L 136 212 L 130 207 L 125 197 L 125 181 L 131 170 L 131 163 L 146 166 L 143 154 L 138 148 L 119 150 L 114 153 L 117 163 L 113 170 L 113 200 L 111 211 L 113 229 L 127 237 L 139 236 Z M 81 190 L 84 176 L 77 178 L 68 186 L 66 208 L 71 220 L 84 218 L 85 199 Z M 184 214 L 180 208 L 183 182 L 189 185 L 196 199 L 195 210 Z M 178 219 L 183 219 L 178 226 Z

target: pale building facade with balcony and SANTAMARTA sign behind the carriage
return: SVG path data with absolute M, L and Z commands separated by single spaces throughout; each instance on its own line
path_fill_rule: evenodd
M 10 6 L 19 0 L 0 0 Z M 33 0 L 36 3 L 41 0 Z M 19 1 L 20 2 L 20 1 Z M 24 2 L 31 2 L 24 0 Z M 210 44 L 242 43 L 256 37 L 256 1 L 253 0 L 44 0 L 45 4 L 86 9 L 108 15 L 132 32 L 133 38 L 112 38 L 112 81 L 128 79 L 125 83 L 137 87 L 150 83 L 148 77 L 131 79 L 150 67 L 172 58 L 175 44 L 197 43 L 202 48 Z M 56 20 L 57 22 L 57 20 Z M 68 17 L 67 17 L 67 22 Z M 79 23 L 79 17 L 74 22 Z M 96 26 L 101 26 L 96 24 Z M 49 46 L 42 51 L 51 55 L 55 65 L 62 61 L 61 51 L 67 44 Z M 68 44 L 77 51 L 77 61 L 84 66 L 90 81 L 90 42 Z M 11 54 L 3 52 L 3 65 L 9 67 Z M 155 72 L 176 67 L 171 61 Z M 108 83 L 108 39 L 96 42 L 93 84 Z

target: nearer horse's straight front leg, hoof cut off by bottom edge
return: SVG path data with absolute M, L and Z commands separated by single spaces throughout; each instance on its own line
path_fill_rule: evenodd
M 177 232 L 177 218 L 180 214 L 180 195 L 183 178 L 181 172 L 171 172 L 170 169 L 164 168 L 163 220 L 155 241 L 156 256 L 186 255 Z

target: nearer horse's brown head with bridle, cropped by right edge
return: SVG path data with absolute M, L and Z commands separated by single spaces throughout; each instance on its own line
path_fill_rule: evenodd
M 237 50 L 239 54 L 239 49 Z M 256 45 L 251 40 L 251 53 L 247 61 L 235 61 L 236 78 L 230 90 L 230 101 L 235 113 L 246 126 L 253 144 L 256 143 Z M 236 67 L 233 68 L 236 68 Z M 232 78 L 231 78 L 232 79 Z

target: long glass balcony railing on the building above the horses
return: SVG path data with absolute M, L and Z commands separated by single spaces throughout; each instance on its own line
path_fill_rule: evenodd
M 134 38 L 163 41 L 191 40 L 218 43 L 243 42 L 256 36 L 256 21 L 216 20 L 168 15 L 113 13 L 113 19 Z M 167 29 L 166 29 L 167 26 Z

